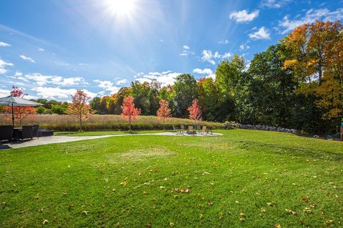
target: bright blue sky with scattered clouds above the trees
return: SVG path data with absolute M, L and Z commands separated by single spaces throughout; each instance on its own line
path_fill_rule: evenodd
M 293 28 L 343 19 L 343 1 L 0 0 L 0 96 L 70 100 L 131 81 L 214 77 L 234 53 L 247 64 Z

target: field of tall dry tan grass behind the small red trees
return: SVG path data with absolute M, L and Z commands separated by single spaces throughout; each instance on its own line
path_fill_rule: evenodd
M 212 128 L 222 128 L 221 123 L 199 121 L 197 125 L 207 125 Z M 1 125 L 11 125 L 11 120 L 6 120 L 3 114 L 0 115 Z M 16 123 L 18 124 L 18 123 Z M 39 124 L 41 129 L 57 131 L 79 130 L 78 121 L 71 115 L 34 115 L 34 120 L 23 120 L 23 125 Z M 194 125 L 194 120 L 168 118 L 166 129 L 172 129 L 172 125 Z M 91 115 L 91 118 L 82 123 L 83 130 L 128 130 L 129 123 L 123 120 L 120 115 Z M 132 122 L 133 130 L 158 130 L 163 129 L 163 123 L 156 116 L 139 116 L 138 120 Z

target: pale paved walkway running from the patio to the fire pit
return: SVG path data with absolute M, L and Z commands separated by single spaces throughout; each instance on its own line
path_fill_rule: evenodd
M 33 147 L 36 145 L 46 145 L 51 143 L 61 143 L 61 142 L 74 142 L 74 141 L 80 141 L 80 140 L 93 140 L 97 138 L 108 138 L 108 137 L 119 137 L 119 136 L 128 136 L 130 134 L 125 135 L 98 135 L 98 136 L 49 136 L 49 137 L 41 137 L 39 139 L 34 138 L 33 140 L 28 140 L 24 142 L 12 142 L 12 143 L 1 143 L 0 144 L 0 150 L 4 149 L 11 149 L 11 148 L 22 148 L 22 147 Z M 175 135 L 174 133 L 143 133 L 143 134 L 132 134 L 130 136 L 138 136 L 138 135 L 169 135 L 169 136 L 193 136 L 193 137 L 214 137 L 222 135 L 221 133 L 213 133 L 209 135 Z

